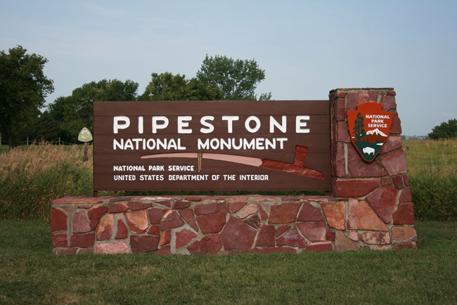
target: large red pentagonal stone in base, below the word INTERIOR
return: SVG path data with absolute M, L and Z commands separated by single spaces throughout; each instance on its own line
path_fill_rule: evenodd
M 231 216 L 221 233 L 224 249 L 250 249 L 254 244 L 256 231 L 243 221 Z

